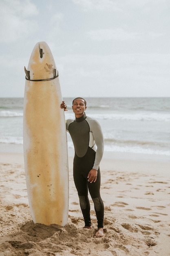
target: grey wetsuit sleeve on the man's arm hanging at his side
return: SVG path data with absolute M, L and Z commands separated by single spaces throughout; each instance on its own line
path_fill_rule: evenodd
M 93 133 L 93 137 L 95 139 L 95 144 L 97 146 L 93 169 L 98 170 L 99 164 L 102 160 L 102 156 L 103 156 L 103 152 L 104 152 L 103 133 L 102 133 L 100 124 L 96 120 L 91 120 L 89 123 L 90 123 L 90 130 Z

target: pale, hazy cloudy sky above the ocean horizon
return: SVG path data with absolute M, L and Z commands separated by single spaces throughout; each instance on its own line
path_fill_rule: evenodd
M 0 0 L 0 97 L 41 41 L 63 97 L 170 97 L 169 0 Z

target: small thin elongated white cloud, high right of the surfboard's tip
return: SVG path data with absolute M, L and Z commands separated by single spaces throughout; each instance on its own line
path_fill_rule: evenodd
M 139 33 L 128 32 L 124 29 L 97 29 L 90 30 L 87 36 L 95 41 L 103 40 L 136 40 L 140 39 L 141 35 Z

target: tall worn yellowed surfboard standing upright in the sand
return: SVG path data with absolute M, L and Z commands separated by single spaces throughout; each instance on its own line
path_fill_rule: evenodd
M 26 186 L 34 223 L 68 220 L 68 153 L 58 71 L 49 46 L 33 48 L 26 70 L 23 144 Z

